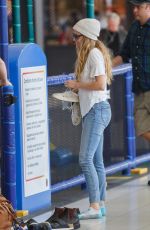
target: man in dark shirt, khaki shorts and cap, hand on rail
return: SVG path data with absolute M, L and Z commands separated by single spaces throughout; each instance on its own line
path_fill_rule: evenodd
M 129 0 L 135 21 L 113 66 L 132 63 L 134 118 L 137 136 L 150 141 L 150 0 Z M 150 181 L 148 181 L 150 185 Z

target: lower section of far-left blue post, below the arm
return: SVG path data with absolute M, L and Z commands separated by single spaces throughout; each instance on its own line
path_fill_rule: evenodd
M 16 208 L 16 146 L 13 86 L 2 87 L 2 193 Z

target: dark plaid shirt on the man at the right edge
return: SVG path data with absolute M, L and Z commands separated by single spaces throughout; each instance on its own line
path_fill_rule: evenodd
M 150 90 L 150 19 L 140 25 L 135 21 L 128 32 L 120 56 L 132 61 L 132 91 L 136 94 Z

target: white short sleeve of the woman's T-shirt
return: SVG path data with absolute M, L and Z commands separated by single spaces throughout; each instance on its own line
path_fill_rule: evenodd
M 89 68 L 90 68 L 90 78 L 95 76 L 105 75 L 105 63 L 101 51 L 94 48 L 89 53 Z

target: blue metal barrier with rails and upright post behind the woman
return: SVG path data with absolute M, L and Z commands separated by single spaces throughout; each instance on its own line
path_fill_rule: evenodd
M 113 164 L 111 166 L 106 167 L 106 174 L 114 174 L 119 171 L 126 170 L 130 171 L 131 168 L 135 166 L 150 161 L 150 153 L 144 154 L 140 157 L 136 157 L 136 145 L 135 145 L 135 130 L 134 130 L 134 117 L 133 117 L 133 93 L 131 91 L 132 87 L 132 67 L 130 64 L 124 64 L 119 67 L 113 69 L 113 75 L 123 74 L 125 77 L 125 102 L 126 102 L 126 145 L 127 145 L 127 156 L 126 160 L 120 163 Z M 74 79 L 74 74 L 71 73 L 69 75 L 59 75 L 59 76 L 50 76 L 48 77 L 48 85 L 62 85 L 66 80 Z M 73 177 L 69 180 L 56 183 L 52 185 L 51 192 L 57 192 L 63 189 L 67 189 L 73 187 L 78 184 L 82 184 L 85 182 L 85 178 L 83 175 L 79 175 Z

